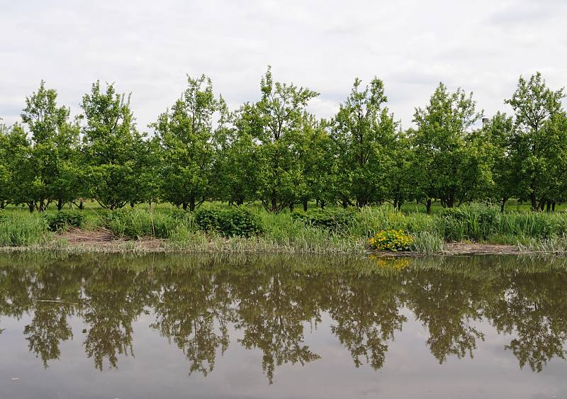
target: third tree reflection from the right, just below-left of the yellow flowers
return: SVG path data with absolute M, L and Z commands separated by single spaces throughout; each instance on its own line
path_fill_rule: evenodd
M 373 369 L 381 369 L 386 357 L 386 342 L 394 338 L 407 321 L 401 315 L 400 281 L 391 278 L 368 279 L 367 276 L 339 280 L 329 292 L 333 334 L 352 355 L 354 365 L 361 357 Z

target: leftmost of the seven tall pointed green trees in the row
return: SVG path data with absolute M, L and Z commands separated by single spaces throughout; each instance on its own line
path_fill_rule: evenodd
M 79 173 L 74 157 L 79 142 L 79 125 L 69 121 L 70 110 L 57 106 L 57 91 L 46 89 L 41 81 L 37 92 L 26 98 L 21 113 L 31 133 L 29 181 L 26 202 L 30 210 L 45 210 L 52 201 L 57 210 L 79 194 Z

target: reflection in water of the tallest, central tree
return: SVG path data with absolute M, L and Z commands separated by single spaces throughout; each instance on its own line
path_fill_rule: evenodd
M 275 366 L 304 365 L 320 358 L 303 342 L 303 323 L 320 321 L 318 291 L 312 289 L 311 280 L 284 269 L 250 274 L 235 284 L 240 300 L 235 327 L 244 330 L 240 342 L 262 351 L 262 369 L 270 383 Z

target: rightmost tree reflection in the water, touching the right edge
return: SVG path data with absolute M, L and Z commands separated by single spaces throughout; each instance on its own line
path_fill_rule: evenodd
M 567 275 L 517 274 L 510 280 L 504 279 L 503 294 L 486 310 L 499 332 L 516 335 L 505 349 L 532 371 L 543 370 L 554 357 L 566 359 Z

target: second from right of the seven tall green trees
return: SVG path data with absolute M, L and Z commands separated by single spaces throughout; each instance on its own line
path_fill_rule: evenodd
M 490 177 L 485 150 L 468 128 L 481 118 L 473 94 L 449 93 L 439 83 L 427 107 L 416 108 L 412 140 L 416 199 L 431 212 L 434 201 L 452 208 L 472 201 Z

